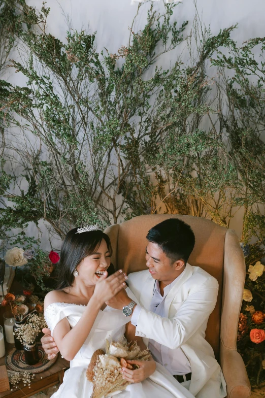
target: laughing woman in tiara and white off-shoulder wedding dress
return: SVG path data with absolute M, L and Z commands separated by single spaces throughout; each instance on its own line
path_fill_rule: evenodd
M 122 311 L 105 303 L 126 287 L 122 270 L 108 277 L 112 248 L 109 237 L 101 230 L 72 229 L 65 237 L 59 263 L 58 287 L 44 301 L 44 315 L 61 355 L 70 360 L 63 383 L 53 398 L 89 398 L 92 383 L 86 369 L 97 349 L 105 349 L 106 339 L 137 341 L 146 349 L 142 338 L 135 336 L 135 326 Z M 136 300 L 134 294 L 126 289 Z M 122 371 L 121 371 L 122 372 Z M 167 370 L 152 358 L 138 369 L 138 380 L 131 380 L 117 398 L 194 398 Z M 127 376 L 123 374 L 123 378 Z M 128 380 L 128 379 L 127 379 Z M 139 382 L 136 382 L 139 381 Z M 108 397 L 112 394 L 108 395 Z

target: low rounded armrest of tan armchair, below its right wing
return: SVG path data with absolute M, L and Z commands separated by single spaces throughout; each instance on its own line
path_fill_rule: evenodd
M 236 350 L 220 345 L 220 364 L 226 381 L 227 398 L 249 398 L 251 388 L 245 364 Z

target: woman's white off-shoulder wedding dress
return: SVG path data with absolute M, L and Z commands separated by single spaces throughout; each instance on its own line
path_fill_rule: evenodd
M 74 327 L 85 306 L 53 303 L 45 310 L 45 319 L 53 335 L 53 330 L 61 319 L 67 318 Z M 90 398 L 92 383 L 86 379 L 86 369 L 91 356 L 97 349 L 104 349 L 106 339 L 118 341 L 125 331 L 128 319 L 119 310 L 106 307 L 98 313 L 93 328 L 75 358 L 70 369 L 64 374 L 63 383 L 52 398 Z M 194 398 L 167 370 L 156 363 L 155 372 L 141 383 L 130 384 L 126 390 L 108 395 L 115 398 Z

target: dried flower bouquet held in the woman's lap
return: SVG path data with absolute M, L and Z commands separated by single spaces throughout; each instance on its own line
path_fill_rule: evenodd
M 120 369 L 123 367 L 137 369 L 137 365 L 130 365 L 127 360 L 149 360 L 148 349 L 141 351 L 137 342 L 127 343 L 125 337 L 119 342 L 106 341 L 106 353 L 96 350 L 86 371 L 87 380 L 93 383 L 91 398 L 104 398 L 115 391 L 125 390 L 130 383 L 122 378 Z M 126 358 L 126 359 L 125 359 Z

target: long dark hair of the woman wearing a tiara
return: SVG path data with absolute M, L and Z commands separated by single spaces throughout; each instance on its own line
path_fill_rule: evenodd
M 110 255 L 112 247 L 110 238 L 101 230 L 82 232 L 77 234 L 77 228 L 71 229 L 65 236 L 61 247 L 60 261 L 57 267 L 57 286 L 56 290 L 63 289 L 73 285 L 74 271 L 83 258 L 90 256 L 98 247 L 102 240 L 106 241 Z M 110 272 L 111 271 L 111 272 Z M 113 272 L 113 266 L 108 268 L 108 273 Z

